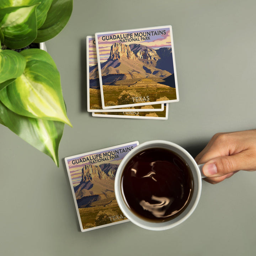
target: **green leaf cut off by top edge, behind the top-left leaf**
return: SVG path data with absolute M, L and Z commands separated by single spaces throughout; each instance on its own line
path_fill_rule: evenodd
M 36 9 L 37 28 L 41 27 L 46 19 L 47 12 L 53 0 L 1 0 L 0 9 L 6 7 L 30 6 L 39 4 Z

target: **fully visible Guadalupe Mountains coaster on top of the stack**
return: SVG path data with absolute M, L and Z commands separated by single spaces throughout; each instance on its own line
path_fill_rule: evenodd
M 179 100 L 171 26 L 95 33 L 95 41 L 103 109 Z

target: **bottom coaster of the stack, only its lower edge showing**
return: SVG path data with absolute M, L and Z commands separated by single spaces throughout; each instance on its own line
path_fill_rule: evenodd
M 137 110 L 129 110 L 125 112 L 92 112 L 94 117 L 117 117 L 117 118 L 134 118 L 134 119 L 168 119 L 169 104 L 164 104 L 164 111 L 138 112 Z M 106 110 L 108 111 L 108 110 Z

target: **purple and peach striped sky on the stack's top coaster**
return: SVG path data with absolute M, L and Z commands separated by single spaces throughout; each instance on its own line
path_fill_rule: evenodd
M 110 55 L 110 49 L 113 43 L 120 43 L 119 39 L 116 40 L 102 40 L 102 36 L 113 36 L 113 35 L 121 35 L 126 33 L 139 33 L 139 32 L 148 32 L 148 31 L 161 31 L 165 30 L 166 34 L 162 35 L 156 35 L 156 36 L 150 36 L 150 40 L 144 40 L 144 41 L 132 41 L 132 42 L 122 42 L 123 44 L 129 45 L 129 44 L 143 44 L 145 46 L 148 46 L 153 49 L 159 49 L 161 47 L 171 47 L 171 32 L 169 27 L 158 27 L 158 28 L 149 28 L 147 30 L 134 30 L 134 31 L 125 31 L 125 32 L 114 32 L 114 33 L 100 33 L 97 34 L 98 37 L 98 49 L 100 54 L 100 62 L 105 62 L 109 55 Z M 138 37 L 140 39 L 140 37 Z

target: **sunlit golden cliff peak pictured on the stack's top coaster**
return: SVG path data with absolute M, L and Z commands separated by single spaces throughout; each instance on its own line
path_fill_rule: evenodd
M 111 46 L 110 57 L 108 58 L 108 60 L 116 60 L 116 59 L 135 60 L 136 56 L 131 51 L 129 46 L 122 43 L 114 43 Z

